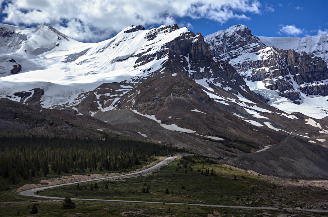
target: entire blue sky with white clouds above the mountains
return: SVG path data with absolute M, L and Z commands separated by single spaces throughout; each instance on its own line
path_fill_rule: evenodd
M 46 24 L 84 42 L 113 37 L 130 25 L 162 24 L 203 36 L 244 24 L 254 35 L 304 37 L 328 33 L 328 0 L 0 0 L 1 23 Z

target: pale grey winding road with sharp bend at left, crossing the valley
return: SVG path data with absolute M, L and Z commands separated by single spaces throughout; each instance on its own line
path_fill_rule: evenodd
M 80 181 L 80 182 L 73 182 L 73 183 L 58 184 L 58 185 L 52 185 L 52 186 L 46 186 L 46 187 L 39 187 L 39 188 L 34 188 L 34 189 L 22 191 L 19 194 L 24 195 L 24 196 L 29 196 L 29 197 L 39 197 L 39 198 L 46 198 L 46 199 L 51 199 L 51 200 L 64 200 L 65 198 L 63 198 L 63 197 L 48 197 L 48 196 L 36 195 L 34 193 L 37 192 L 37 191 L 42 191 L 44 189 L 59 187 L 59 186 L 63 186 L 63 185 L 78 184 L 78 183 L 93 182 L 93 181 L 101 181 L 101 180 L 109 180 L 109 179 L 116 179 L 116 178 L 124 178 L 124 177 L 129 177 L 131 175 L 147 173 L 147 172 L 153 171 L 154 169 L 157 169 L 157 168 L 163 166 L 164 164 L 169 163 L 174 158 L 181 157 L 181 156 L 182 155 L 178 155 L 178 156 L 174 156 L 174 157 L 168 157 L 168 158 L 164 159 L 163 161 L 157 163 L 156 165 L 154 165 L 152 167 L 149 167 L 147 169 L 138 171 L 138 172 L 133 172 L 133 173 L 119 175 L 119 176 L 105 177 L 105 178 L 100 178 L 100 179 L 92 179 L 92 180 L 85 180 L 85 181 Z M 105 199 L 84 199 L 84 198 L 71 198 L 71 199 L 72 200 L 79 200 L 79 201 L 106 201 L 106 202 L 164 204 L 164 202 L 150 202 L 150 201 L 127 201 L 127 200 L 105 200 Z M 278 207 L 260 207 L 260 206 L 226 206 L 226 205 L 210 205 L 210 204 L 166 203 L 166 202 L 165 202 L 165 204 L 188 205 L 188 206 L 210 206 L 210 207 L 240 208 L 240 209 L 281 209 L 281 208 L 278 208 Z M 296 210 L 294 208 L 282 208 L 282 209 Z M 324 210 L 324 209 L 302 209 L 302 211 L 327 212 L 328 213 L 328 210 Z

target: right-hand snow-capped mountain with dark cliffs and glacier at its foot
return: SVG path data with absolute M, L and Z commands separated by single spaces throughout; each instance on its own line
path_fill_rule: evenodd
M 211 53 L 218 60 L 228 61 L 245 78 L 251 90 L 266 98 L 269 104 L 286 112 L 297 110 L 309 116 L 325 117 L 328 99 L 327 63 L 305 52 L 312 51 L 324 56 L 328 46 L 325 38 L 326 35 L 313 37 L 312 40 L 309 37 L 298 40 L 259 38 L 248 27 L 237 25 L 210 34 L 205 37 L 205 41 L 210 44 Z M 287 46 L 285 42 L 292 40 L 294 43 Z M 268 47 L 266 43 L 275 47 Z M 304 48 L 300 44 L 308 46 Z M 302 52 L 297 53 L 298 50 Z M 291 101 L 300 105 L 292 106 Z

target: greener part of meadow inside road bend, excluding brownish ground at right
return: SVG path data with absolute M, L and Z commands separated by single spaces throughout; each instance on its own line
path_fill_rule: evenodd
M 204 166 L 204 168 L 203 168 Z M 266 184 L 238 170 L 230 171 L 222 164 L 195 164 L 190 168 L 178 168 L 177 161 L 162 167 L 160 172 L 152 176 L 144 176 L 120 181 L 98 182 L 98 189 L 91 191 L 91 183 L 66 185 L 45 190 L 40 195 L 55 197 L 95 198 L 114 200 L 141 200 L 173 203 L 204 203 L 231 205 L 236 198 L 246 198 L 261 189 Z M 199 172 L 197 170 L 200 170 Z M 205 170 L 214 169 L 215 176 L 202 174 Z M 220 172 L 221 170 L 221 172 Z M 186 173 L 187 171 L 187 173 Z M 234 180 L 236 175 L 237 181 Z M 241 178 L 244 175 L 244 179 Z M 105 184 L 108 189 L 105 189 Z M 184 188 L 182 188 L 182 185 Z M 254 188 L 254 186 L 257 186 Z M 143 187 L 149 193 L 142 193 Z M 166 188 L 169 194 L 166 194 Z

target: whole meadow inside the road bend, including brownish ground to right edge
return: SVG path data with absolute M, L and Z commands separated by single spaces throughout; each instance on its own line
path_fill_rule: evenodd
M 172 203 L 196 203 L 237 206 L 306 206 L 324 200 L 328 191 L 321 188 L 279 186 L 264 181 L 245 170 L 225 164 L 195 163 L 190 168 L 178 167 L 179 160 L 169 163 L 151 176 L 118 181 L 66 185 L 47 189 L 40 195 L 72 198 L 95 198 Z M 205 170 L 213 169 L 214 176 Z M 236 176 L 236 180 L 235 180 Z M 243 178 L 242 178 L 243 177 Z M 105 189 L 105 185 L 108 189 Z M 149 193 L 142 189 L 149 188 Z M 183 186 L 183 187 L 182 187 Z M 166 189 L 169 193 L 166 194 Z M 310 201 L 310 202 L 309 202 Z

